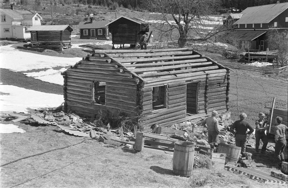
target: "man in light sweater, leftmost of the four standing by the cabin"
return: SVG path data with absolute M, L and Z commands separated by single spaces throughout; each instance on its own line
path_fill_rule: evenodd
M 217 142 L 219 137 L 219 124 L 218 119 L 216 119 L 217 111 L 212 111 L 212 116 L 207 117 L 204 121 L 202 121 L 202 125 L 207 125 L 208 128 L 208 143 Z

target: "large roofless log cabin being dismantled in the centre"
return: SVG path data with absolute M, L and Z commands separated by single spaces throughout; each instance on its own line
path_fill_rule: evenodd
M 122 112 L 145 129 L 229 110 L 230 70 L 190 48 L 94 50 L 63 72 L 65 112 Z

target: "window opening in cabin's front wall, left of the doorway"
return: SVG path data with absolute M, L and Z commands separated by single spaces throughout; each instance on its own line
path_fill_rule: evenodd
M 152 109 L 159 110 L 166 108 L 166 85 L 153 87 L 152 90 Z

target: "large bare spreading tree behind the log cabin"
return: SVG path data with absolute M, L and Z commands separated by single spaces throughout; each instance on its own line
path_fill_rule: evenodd
M 218 26 L 222 23 L 210 27 L 207 17 L 218 5 L 218 0 L 143 0 L 143 8 L 155 12 L 150 14 L 150 19 L 158 20 L 154 25 L 160 35 L 175 37 L 178 33 L 180 48 L 185 46 L 188 38 L 197 36 L 207 40 L 219 31 Z

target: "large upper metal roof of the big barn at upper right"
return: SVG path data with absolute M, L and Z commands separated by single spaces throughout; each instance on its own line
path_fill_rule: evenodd
M 278 3 L 248 7 L 241 12 L 242 17 L 234 24 L 265 24 L 269 23 L 280 13 L 288 9 L 288 3 Z

